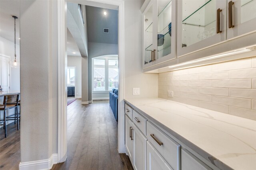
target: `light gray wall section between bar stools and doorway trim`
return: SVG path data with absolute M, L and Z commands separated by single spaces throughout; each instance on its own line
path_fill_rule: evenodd
M 21 162 L 58 152 L 56 9 L 57 1 L 20 1 Z

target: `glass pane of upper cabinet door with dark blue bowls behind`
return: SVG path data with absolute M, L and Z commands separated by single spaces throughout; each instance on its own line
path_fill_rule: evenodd
M 172 0 L 158 0 L 157 59 L 172 53 L 173 27 L 175 23 L 172 23 Z

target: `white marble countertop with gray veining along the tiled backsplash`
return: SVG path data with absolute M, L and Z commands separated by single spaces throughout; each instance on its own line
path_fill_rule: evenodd
M 218 168 L 256 170 L 256 121 L 162 98 L 124 101 Z

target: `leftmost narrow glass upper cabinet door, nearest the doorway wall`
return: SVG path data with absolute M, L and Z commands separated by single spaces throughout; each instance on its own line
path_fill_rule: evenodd
M 154 18 L 154 8 L 152 1 L 146 8 L 144 12 L 144 64 L 143 68 L 153 65 L 153 54 L 154 43 L 153 43 L 153 18 Z

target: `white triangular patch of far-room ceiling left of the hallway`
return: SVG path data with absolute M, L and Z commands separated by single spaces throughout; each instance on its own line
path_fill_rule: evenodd
M 76 41 L 72 37 L 70 31 L 67 29 L 67 55 L 81 56 Z

